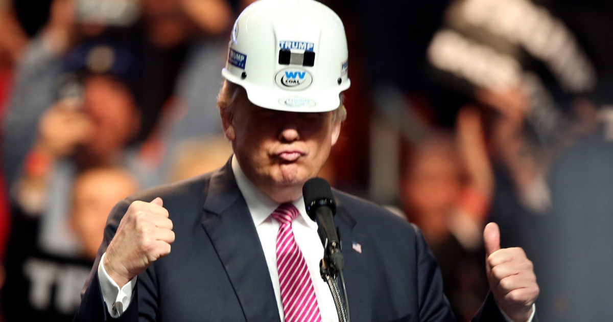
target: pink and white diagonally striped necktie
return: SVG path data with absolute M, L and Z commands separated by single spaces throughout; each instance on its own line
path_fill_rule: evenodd
M 320 322 L 319 305 L 307 261 L 294 240 L 292 220 L 299 215 L 292 204 L 281 204 L 271 216 L 279 221 L 276 236 L 276 267 L 286 322 Z

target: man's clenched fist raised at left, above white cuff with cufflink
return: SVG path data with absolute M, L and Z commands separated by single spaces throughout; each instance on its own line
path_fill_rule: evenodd
M 154 261 L 170 253 L 175 241 L 162 199 L 134 201 L 121 219 L 104 256 L 104 269 L 121 288 Z

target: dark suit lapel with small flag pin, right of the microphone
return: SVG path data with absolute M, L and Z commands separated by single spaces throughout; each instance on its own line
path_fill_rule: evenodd
M 361 233 L 359 228 L 356 228 L 356 220 L 343 207 L 338 197 L 337 214 L 334 221 L 341 233 L 341 241 L 343 243 L 343 258 L 345 258 L 345 286 L 347 288 L 347 297 L 349 299 L 349 310 L 351 313 L 352 322 L 367 322 L 372 318 L 372 289 L 369 281 L 371 277 L 368 275 L 367 252 L 371 251 L 368 239 L 365 234 Z M 352 243 L 357 243 L 362 247 L 362 253 L 358 253 L 352 247 Z

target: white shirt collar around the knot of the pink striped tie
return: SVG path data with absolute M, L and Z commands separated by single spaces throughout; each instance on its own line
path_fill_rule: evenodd
M 246 177 L 245 172 L 243 172 L 243 170 L 240 168 L 236 155 L 232 156 L 232 172 L 234 172 L 234 178 L 236 178 L 238 190 L 240 190 L 240 192 L 243 194 L 243 197 L 247 202 L 249 212 L 251 212 L 253 223 L 257 227 L 264 223 L 264 221 L 267 220 L 270 214 L 275 211 L 280 204 L 270 199 L 270 197 L 262 193 L 262 191 L 253 185 L 251 180 Z M 298 199 L 293 201 L 292 204 L 294 204 L 294 206 L 300 212 L 300 217 L 302 217 L 304 223 L 306 223 L 309 228 L 317 230 L 317 224 L 307 215 L 304 198 L 300 196 Z

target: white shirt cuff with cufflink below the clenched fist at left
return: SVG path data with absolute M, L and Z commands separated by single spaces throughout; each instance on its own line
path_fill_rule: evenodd
M 128 305 L 132 301 L 132 289 L 136 286 L 136 277 L 120 289 L 119 285 L 104 269 L 104 255 L 107 255 L 107 253 L 102 254 L 98 265 L 98 280 L 100 280 L 100 288 L 102 289 L 102 299 L 107 304 L 109 314 L 113 318 L 118 318 L 128 309 Z

